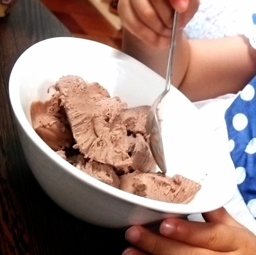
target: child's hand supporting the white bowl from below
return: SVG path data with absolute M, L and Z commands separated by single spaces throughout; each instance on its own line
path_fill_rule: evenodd
M 160 233 L 132 226 L 126 239 L 135 247 L 125 255 L 254 255 L 256 236 L 236 222 L 224 208 L 204 214 L 206 223 L 180 218 L 164 220 Z M 139 250 L 140 249 L 140 250 Z

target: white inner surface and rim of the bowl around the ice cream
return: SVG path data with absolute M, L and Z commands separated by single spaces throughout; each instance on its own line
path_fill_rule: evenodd
M 51 38 L 27 49 L 16 61 L 10 76 L 10 100 L 16 119 L 30 140 L 63 168 L 79 175 L 85 184 L 156 211 L 191 214 L 219 208 L 229 201 L 236 187 L 229 150 L 202 119 L 199 111 L 172 87 L 160 104 L 163 145 L 168 175 L 179 173 L 200 181 L 202 189 L 189 204 L 169 204 L 126 194 L 63 162 L 35 134 L 30 125 L 30 104 L 48 100 L 48 88 L 62 75 L 79 75 L 98 82 L 128 107 L 151 105 L 165 88 L 165 80 L 137 60 L 116 49 L 79 38 Z M 65 164 L 66 163 L 66 164 Z M 218 187 L 218 188 L 216 188 Z

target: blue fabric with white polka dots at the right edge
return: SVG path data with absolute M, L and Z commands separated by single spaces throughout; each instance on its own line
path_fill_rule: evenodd
M 256 24 L 256 13 L 252 22 Z M 227 109 L 225 119 L 238 189 L 256 218 L 256 77 Z

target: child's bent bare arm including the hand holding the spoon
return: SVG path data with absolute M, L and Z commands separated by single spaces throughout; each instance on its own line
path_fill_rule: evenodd
M 168 34 L 171 34 L 168 28 L 172 21 L 155 18 L 157 15 L 165 17 L 166 13 L 160 13 L 154 5 L 151 5 L 150 12 L 143 12 L 141 7 L 131 7 L 134 1 L 119 0 L 118 10 L 124 26 L 123 51 L 165 77 L 170 41 Z M 136 2 L 145 6 L 151 1 L 154 2 Z M 174 2 L 177 4 L 182 1 L 169 0 L 166 10 L 170 13 L 173 12 L 171 6 L 174 6 Z M 187 40 L 182 27 L 196 12 L 198 1 L 190 0 L 182 6 L 185 8 L 179 13 L 181 21 L 176 35 L 172 85 L 192 101 L 237 93 L 256 75 L 255 49 L 243 36 Z

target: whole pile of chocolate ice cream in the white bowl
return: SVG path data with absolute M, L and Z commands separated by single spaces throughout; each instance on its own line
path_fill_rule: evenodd
M 99 83 L 66 75 L 47 102 L 34 102 L 32 125 L 73 166 L 118 189 L 169 203 L 188 203 L 201 185 L 155 173 L 146 141 L 149 106 L 127 109 Z

